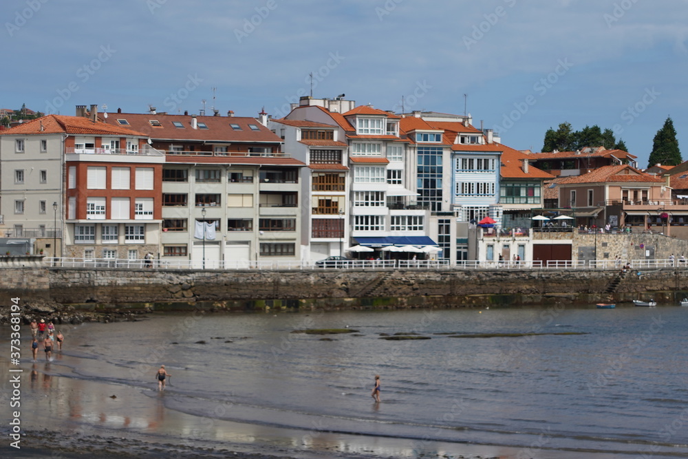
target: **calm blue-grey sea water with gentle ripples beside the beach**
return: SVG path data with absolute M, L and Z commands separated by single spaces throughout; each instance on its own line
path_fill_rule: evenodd
M 292 333 L 323 328 L 351 332 Z M 152 314 L 63 326 L 52 372 L 158 397 L 164 364 L 161 403 L 176 412 L 404 438 L 411 449 L 438 440 L 685 457 L 687 329 L 688 308 L 661 305 Z M 384 339 L 397 333 L 430 339 Z

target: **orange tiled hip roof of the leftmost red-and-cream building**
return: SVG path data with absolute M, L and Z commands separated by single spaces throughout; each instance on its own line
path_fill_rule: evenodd
M 136 136 L 148 137 L 140 131 L 113 126 L 102 121 L 93 122 L 83 116 L 46 115 L 21 123 L 0 135 L 12 134 L 75 134 L 85 136 Z

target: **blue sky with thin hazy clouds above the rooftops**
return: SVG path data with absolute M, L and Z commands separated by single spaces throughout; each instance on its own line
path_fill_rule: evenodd
M 0 108 L 281 118 L 345 94 L 467 112 L 515 149 L 599 125 L 643 168 L 671 117 L 688 159 L 688 0 L 3 0 L 0 18 Z

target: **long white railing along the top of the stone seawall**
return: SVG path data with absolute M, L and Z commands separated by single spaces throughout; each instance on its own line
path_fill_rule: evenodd
M 630 266 L 634 270 L 661 268 L 688 268 L 688 262 L 678 259 L 635 259 L 635 260 L 534 260 L 534 261 L 475 261 L 462 260 L 449 264 L 447 260 L 349 260 L 349 261 L 298 261 L 298 260 L 200 260 L 189 259 L 123 259 L 123 258 L 53 258 L 44 257 L 45 266 L 59 268 L 124 268 L 124 269 L 175 269 L 175 270 L 361 270 L 361 269 L 597 269 L 616 270 Z

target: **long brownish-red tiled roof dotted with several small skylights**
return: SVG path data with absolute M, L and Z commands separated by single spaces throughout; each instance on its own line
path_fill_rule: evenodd
M 117 120 L 127 120 L 131 129 L 144 132 L 146 136 L 155 140 L 282 142 L 281 138 L 255 118 L 196 116 L 197 122 L 204 123 L 208 129 L 193 129 L 191 119 L 191 115 L 112 113 L 107 118 L 107 124 L 120 126 Z M 151 125 L 151 120 L 157 120 L 161 126 Z M 183 127 L 175 127 L 173 121 L 181 122 Z M 233 129 L 230 125 L 238 125 L 239 129 Z M 255 126 L 255 129 L 251 129 L 249 125 Z

